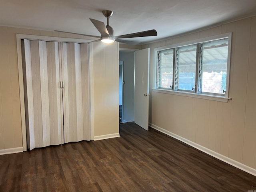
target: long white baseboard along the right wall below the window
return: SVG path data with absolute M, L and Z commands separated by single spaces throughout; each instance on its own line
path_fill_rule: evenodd
M 165 130 L 163 128 L 160 128 L 160 127 L 158 127 L 158 126 L 156 126 L 154 124 L 148 123 L 148 125 L 151 128 L 153 128 L 155 130 L 158 130 L 158 131 L 160 131 L 160 132 L 162 132 L 162 133 L 164 133 L 164 134 L 166 134 L 168 136 L 171 136 L 171 137 L 173 137 L 175 139 L 178 139 L 178 140 L 180 140 L 180 141 L 182 141 L 182 142 L 184 142 L 184 143 L 186 143 L 186 144 L 188 144 L 188 145 L 190 145 L 190 146 L 192 146 L 192 147 L 194 147 L 194 148 L 196 148 L 196 149 L 198 149 L 198 150 L 200 150 L 202 152 L 205 152 L 206 154 L 208 154 L 210 156 L 213 156 L 213 157 L 215 157 L 215 158 L 217 158 L 219 160 L 222 160 L 223 162 L 226 162 L 226 163 L 228 163 L 228 164 L 230 164 L 230 165 L 232 165 L 232 166 L 234 166 L 234 167 L 236 167 L 238 169 L 241 169 L 241 170 L 243 170 L 243 171 L 245 171 L 247 173 L 250 173 L 250 174 L 256 176 L 256 169 L 254 169 L 254 168 L 246 166 L 246 165 L 244 165 L 244 164 L 242 164 L 242 163 L 240 163 L 238 161 L 235 161 L 235 160 L 233 160 L 231 158 L 228 158 L 228 157 L 226 157 L 226 156 L 224 156 L 222 154 L 219 154 L 219 153 L 217 153 L 217 152 L 215 152 L 213 150 L 210 150 L 210 149 L 208 149 L 208 148 L 206 148 L 204 146 L 196 144 L 195 142 L 192 142 L 192 141 L 190 141 L 188 139 L 185 139 L 185 138 L 183 138 L 181 136 L 178 136 L 178 135 L 176 135 L 176 134 L 174 134 L 174 133 L 172 133 L 170 131 L 167 131 L 167 130 Z

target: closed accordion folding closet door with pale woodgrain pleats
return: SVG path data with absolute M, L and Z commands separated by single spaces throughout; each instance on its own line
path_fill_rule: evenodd
M 28 149 L 90 140 L 88 44 L 22 40 Z

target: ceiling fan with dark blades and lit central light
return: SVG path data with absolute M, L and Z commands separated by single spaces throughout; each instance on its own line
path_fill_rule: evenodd
M 92 24 L 94 24 L 94 26 L 100 32 L 100 36 L 65 32 L 65 31 L 58 31 L 58 30 L 55 30 L 55 31 L 99 38 L 98 40 L 94 40 L 92 42 L 102 41 L 104 43 L 112 43 L 114 41 L 118 41 L 118 42 L 121 42 L 121 43 L 131 44 L 131 45 L 136 45 L 136 44 L 139 44 L 140 42 L 128 41 L 128 40 L 122 40 L 122 39 L 123 38 L 147 37 L 147 36 L 156 36 L 157 35 L 156 30 L 152 29 L 152 30 L 148 30 L 148 31 L 142 31 L 142 32 L 136 32 L 136 33 L 131 33 L 131 34 L 115 36 L 113 28 L 108 23 L 109 18 L 113 15 L 114 12 L 110 11 L 110 10 L 104 10 L 104 11 L 102 11 L 102 13 L 107 18 L 107 25 L 106 26 L 105 26 L 104 22 L 101 22 L 101 21 L 90 18 L 90 21 L 92 22 Z

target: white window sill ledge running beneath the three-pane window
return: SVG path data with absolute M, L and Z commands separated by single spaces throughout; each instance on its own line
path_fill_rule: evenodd
M 180 95 L 180 96 L 207 99 L 207 100 L 220 101 L 220 102 L 226 102 L 226 103 L 228 102 L 228 100 L 231 100 L 231 98 L 222 97 L 222 96 L 212 96 L 212 95 L 206 95 L 206 94 L 196 94 L 196 93 L 172 91 L 172 90 L 165 90 L 165 89 L 152 89 L 152 90 L 153 92 L 158 92 L 158 93 Z

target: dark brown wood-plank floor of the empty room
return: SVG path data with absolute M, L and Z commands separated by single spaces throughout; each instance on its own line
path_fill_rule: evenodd
M 1 192 L 247 192 L 256 177 L 156 130 L 0 156 Z

